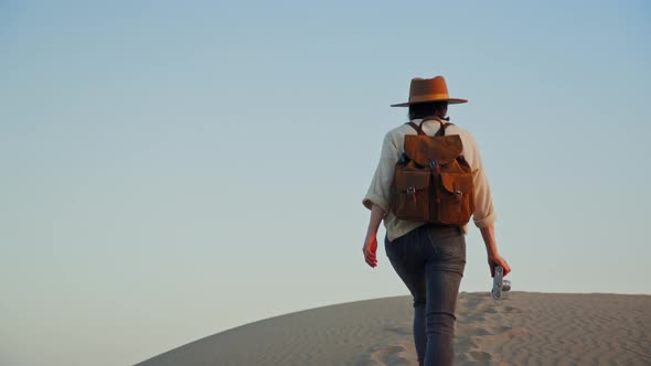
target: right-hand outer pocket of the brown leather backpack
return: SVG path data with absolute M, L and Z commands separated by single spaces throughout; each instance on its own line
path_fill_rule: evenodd
M 440 173 L 438 217 L 442 224 L 466 225 L 474 212 L 472 175 Z

